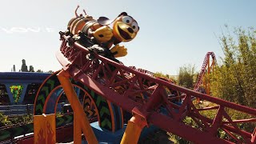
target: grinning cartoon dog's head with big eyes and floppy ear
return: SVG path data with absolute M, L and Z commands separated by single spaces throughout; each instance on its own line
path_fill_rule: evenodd
M 113 35 L 120 42 L 130 42 L 136 37 L 139 30 L 136 20 L 125 12 L 119 14 L 114 21 L 105 17 L 99 18 L 98 23 L 103 26 L 113 23 Z

